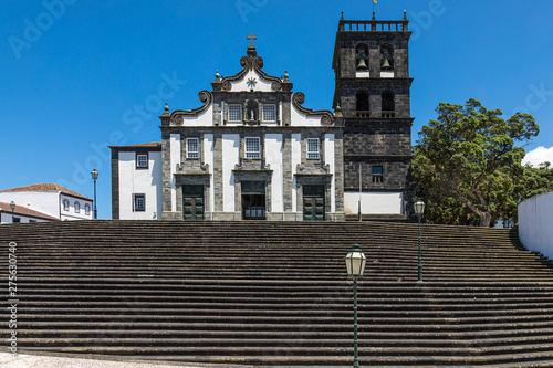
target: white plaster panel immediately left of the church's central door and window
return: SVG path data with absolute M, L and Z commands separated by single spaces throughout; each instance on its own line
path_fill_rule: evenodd
M 234 212 L 234 174 L 232 170 L 240 158 L 240 135 L 222 135 L 222 210 Z

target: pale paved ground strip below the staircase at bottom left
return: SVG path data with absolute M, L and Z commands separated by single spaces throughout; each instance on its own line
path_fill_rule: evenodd
M 13 357 L 8 353 L 0 353 L 2 368 L 206 368 L 212 365 L 190 366 L 167 362 L 144 362 L 139 360 L 115 360 L 113 357 L 71 358 L 61 355 L 27 355 L 18 354 Z M 221 367 L 221 366 L 218 366 Z M 228 368 L 236 366 L 227 366 Z M 221 367 L 223 368 L 223 367 Z

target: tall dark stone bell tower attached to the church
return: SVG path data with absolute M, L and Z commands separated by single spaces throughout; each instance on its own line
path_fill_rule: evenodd
M 344 115 L 346 219 L 401 220 L 411 212 L 407 14 L 338 23 L 333 107 Z M 361 170 L 359 170 L 361 168 Z M 361 194 L 359 194 L 361 188 Z

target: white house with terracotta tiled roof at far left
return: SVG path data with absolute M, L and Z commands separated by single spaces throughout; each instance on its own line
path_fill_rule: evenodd
M 56 183 L 0 190 L 0 202 L 12 201 L 18 208 L 33 210 L 61 221 L 93 219 L 92 199 Z

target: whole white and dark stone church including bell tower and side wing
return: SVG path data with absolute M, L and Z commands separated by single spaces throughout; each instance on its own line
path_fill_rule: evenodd
M 409 213 L 408 40 L 401 21 L 345 21 L 333 111 L 267 74 L 253 34 L 241 71 L 201 106 L 160 116 L 161 143 L 112 146 L 114 219 L 344 221 Z

